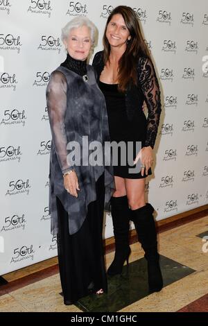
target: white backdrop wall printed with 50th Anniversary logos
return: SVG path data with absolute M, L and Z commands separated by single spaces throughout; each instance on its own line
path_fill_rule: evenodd
M 0 0 L 0 275 L 57 255 L 45 89 L 65 58 L 60 30 L 87 15 L 99 30 L 94 52 L 101 50 L 106 18 L 121 4 L 127 3 Z M 156 166 L 146 183 L 160 220 L 208 203 L 208 3 L 130 0 L 128 6 L 141 21 L 162 89 Z M 107 216 L 105 237 L 111 236 Z

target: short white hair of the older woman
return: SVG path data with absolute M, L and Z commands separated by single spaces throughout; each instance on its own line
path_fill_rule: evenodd
M 62 42 L 67 39 L 71 29 L 87 26 L 90 31 L 90 38 L 92 44 L 96 41 L 97 28 L 96 26 L 85 16 L 78 16 L 73 18 L 66 26 L 62 28 Z

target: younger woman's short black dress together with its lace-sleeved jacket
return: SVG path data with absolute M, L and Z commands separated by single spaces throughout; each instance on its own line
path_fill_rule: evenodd
M 135 168 L 133 159 L 142 147 L 155 145 L 159 117 L 161 114 L 160 90 L 155 68 L 150 58 L 141 55 L 137 62 L 137 85 L 129 83 L 125 92 L 119 92 L 118 85 L 102 83 L 101 73 L 105 67 L 103 51 L 95 54 L 92 66 L 96 71 L 98 85 L 101 88 L 106 101 L 107 116 L 110 128 L 110 140 L 119 144 L 123 141 L 126 148 L 123 161 L 123 153 L 117 155 L 112 149 L 113 164 L 118 157 L 118 164 L 114 164 L 114 175 L 121 178 L 140 179 L 146 178 L 141 175 L 141 161 L 137 163 L 137 171 L 130 171 Z M 146 101 L 148 117 L 144 114 L 142 105 Z M 129 143 L 130 142 L 130 143 Z M 129 144 L 132 146 L 129 147 Z M 139 149 L 137 145 L 139 144 Z M 117 163 L 117 162 L 116 162 Z M 146 171 L 145 171 L 146 172 Z M 152 174 L 151 169 L 148 175 Z

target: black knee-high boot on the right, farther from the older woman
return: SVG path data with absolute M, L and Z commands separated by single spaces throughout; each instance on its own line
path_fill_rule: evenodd
M 157 232 L 153 217 L 154 208 L 147 203 L 145 206 L 132 210 L 132 221 L 135 223 L 137 236 L 144 249 L 148 262 L 148 284 L 150 293 L 162 289 L 162 273 L 159 267 L 159 254 L 157 252 Z

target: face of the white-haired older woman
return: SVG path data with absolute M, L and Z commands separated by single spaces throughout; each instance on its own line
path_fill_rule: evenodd
M 86 60 L 91 45 L 90 31 L 85 25 L 78 28 L 71 28 L 68 38 L 64 40 L 64 46 L 69 55 L 76 60 Z

